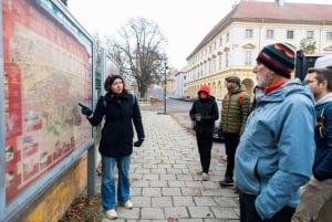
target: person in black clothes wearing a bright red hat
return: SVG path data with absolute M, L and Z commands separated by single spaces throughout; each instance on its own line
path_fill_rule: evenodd
M 189 112 L 190 119 L 196 123 L 196 139 L 201 165 L 201 178 L 208 180 L 211 161 L 212 133 L 215 120 L 219 118 L 218 106 L 210 88 L 204 85 L 198 91 L 198 99 Z

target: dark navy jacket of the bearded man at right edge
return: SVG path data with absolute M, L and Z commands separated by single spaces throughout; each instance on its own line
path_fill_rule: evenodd
M 322 181 L 332 179 L 332 93 L 322 97 L 315 105 L 315 114 L 319 119 L 324 117 L 325 135 L 321 137 L 319 128 L 315 128 L 315 156 L 313 176 Z

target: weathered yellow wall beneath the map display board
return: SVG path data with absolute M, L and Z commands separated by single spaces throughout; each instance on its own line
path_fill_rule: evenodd
M 86 187 L 87 158 L 83 156 L 72 168 L 50 186 L 46 191 L 29 203 L 17 222 L 58 222 Z M 21 213 L 20 213 L 21 214 Z

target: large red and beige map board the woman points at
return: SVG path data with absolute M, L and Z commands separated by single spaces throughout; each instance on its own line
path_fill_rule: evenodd
M 92 43 L 51 1 L 3 0 L 6 202 L 92 131 Z

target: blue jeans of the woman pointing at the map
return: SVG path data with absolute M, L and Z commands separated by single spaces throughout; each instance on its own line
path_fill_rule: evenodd
M 126 202 L 131 197 L 129 166 L 131 155 L 125 157 L 106 157 L 102 155 L 102 203 L 104 210 L 115 209 L 114 166 L 117 163 L 117 201 Z

